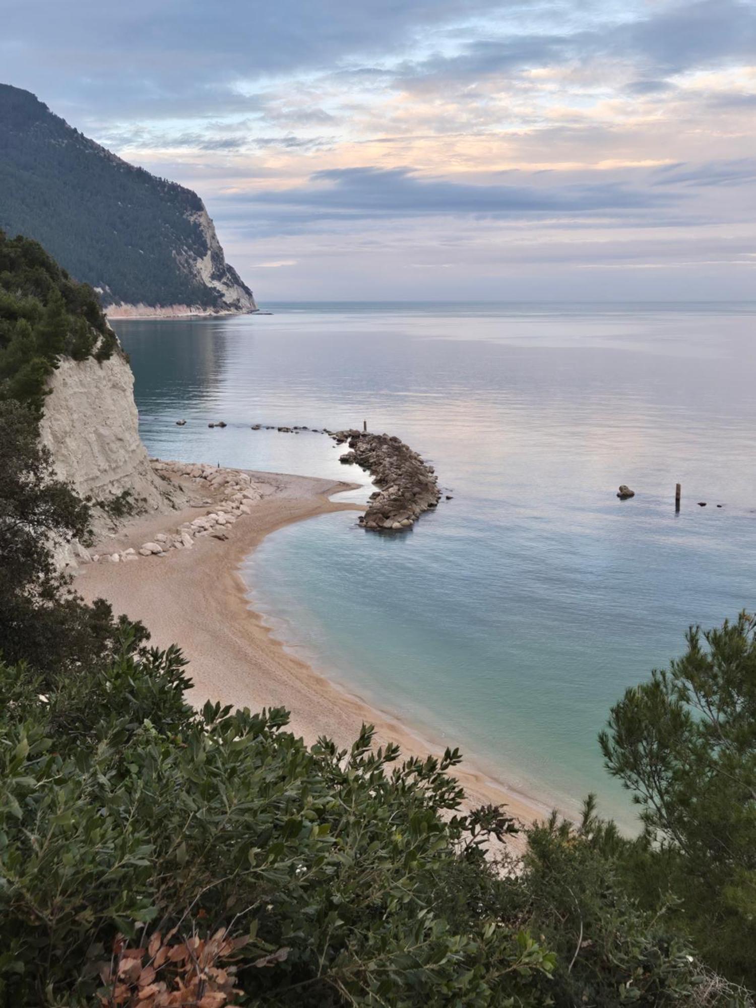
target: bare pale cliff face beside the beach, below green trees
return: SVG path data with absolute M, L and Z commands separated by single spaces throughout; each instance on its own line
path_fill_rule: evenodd
M 112 525 L 109 509 L 115 498 L 138 511 L 169 511 L 181 504 L 175 489 L 152 470 L 139 437 L 133 386 L 120 353 L 102 363 L 64 358 L 49 379 L 39 437 L 52 453 L 60 479 L 101 504 L 93 510 L 98 532 Z M 57 550 L 61 565 L 81 555 L 77 543 Z

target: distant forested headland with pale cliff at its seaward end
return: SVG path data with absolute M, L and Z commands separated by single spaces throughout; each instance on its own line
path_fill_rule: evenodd
M 0 229 L 40 242 L 111 314 L 254 311 L 200 197 L 0 85 Z

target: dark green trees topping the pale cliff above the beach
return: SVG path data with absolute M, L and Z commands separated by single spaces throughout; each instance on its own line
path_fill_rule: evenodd
M 97 295 L 44 249 L 0 231 L 0 398 L 39 414 L 61 356 L 103 361 L 118 346 Z

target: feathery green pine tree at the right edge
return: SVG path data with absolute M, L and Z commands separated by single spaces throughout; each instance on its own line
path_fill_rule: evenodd
M 705 959 L 756 989 L 756 623 L 746 614 L 628 689 L 601 735 L 641 807 L 633 875 L 669 890 Z M 655 888 L 656 892 L 652 892 Z

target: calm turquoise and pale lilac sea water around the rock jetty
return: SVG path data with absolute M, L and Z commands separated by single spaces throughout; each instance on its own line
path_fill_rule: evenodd
M 330 438 L 250 425 L 367 418 L 454 499 L 401 536 L 350 513 L 269 536 L 256 607 L 516 786 L 631 822 L 596 742 L 610 706 L 688 624 L 756 606 L 756 304 L 268 307 L 117 324 L 150 453 L 354 478 Z

